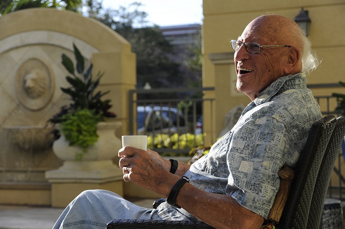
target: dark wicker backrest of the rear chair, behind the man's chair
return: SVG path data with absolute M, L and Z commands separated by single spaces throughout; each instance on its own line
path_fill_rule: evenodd
M 340 146 L 345 136 L 345 117 L 337 118 L 337 124 L 334 128 L 333 134 L 325 155 L 323 156 L 320 170 L 317 174 L 314 192 L 311 199 L 311 207 L 308 217 L 308 228 L 319 228 L 325 201 L 327 188 L 331 180 L 332 171 L 339 156 Z

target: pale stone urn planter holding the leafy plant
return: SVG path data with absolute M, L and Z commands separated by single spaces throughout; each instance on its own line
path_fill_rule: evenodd
M 117 156 L 121 148 L 121 140 L 115 136 L 115 130 L 121 127 L 121 122 L 100 122 L 97 124 L 98 141 L 83 153 L 82 161 L 103 161 Z M 82 153 L 79 146 L 70 146 L 65 136 L 54 141 L 53 151 L 63 161 L 74 161 L 77 153 Z

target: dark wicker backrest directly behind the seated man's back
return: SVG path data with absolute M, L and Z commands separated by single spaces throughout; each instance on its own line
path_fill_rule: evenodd
M 336 122 L 334 115 L 328 115 L 312 125 L 295 170 L 288 200 L 276 228 L 307 228 L 316 176 Z

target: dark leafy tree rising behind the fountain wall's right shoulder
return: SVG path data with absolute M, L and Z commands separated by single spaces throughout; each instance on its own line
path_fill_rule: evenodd
M 131 43 L 137 55 L 138 88 L 146 82 L 153 88 L 184 86 L 179 64 L 168 57 L 173 54 L 173 47 L 157 26 L 147 27 L 147 13 L 139 10 L 141 3 L 103 9 L 99 0 L 88 0 L 88 6 L 89 17 L 114 29 Z

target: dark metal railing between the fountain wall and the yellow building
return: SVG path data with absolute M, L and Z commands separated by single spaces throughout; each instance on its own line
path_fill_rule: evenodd
M 203 99 L 205 91 L 212 91 L 214 87 L 202 88 L 161 88 L 138 89 L 129 91 L 129 134 L 144 134 L 154 138 L 157 134 L 172 136 L 177 133 L 193 134 L 193 147 L 197 146 L 195 135 L 202 137 L 202 125 L 197 123 L 203 116 L 206 103 L 213 106 L 213 98 Z M 159 97 L 159 98 L 157 98 Z M 212 117 L 213 109 L 209 109 Z M 203 122 L 201 122 L 203 124 Z M 211 127 L 213 129 L 213 127 Z M 190 147 L 176 146 L 170 138 L 166 147 L 152 147 L 159 153 L 174 153 L 188 155 Z M 157 141 L 157 140 L 156 140 Z

